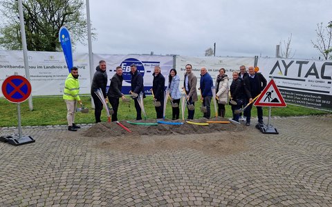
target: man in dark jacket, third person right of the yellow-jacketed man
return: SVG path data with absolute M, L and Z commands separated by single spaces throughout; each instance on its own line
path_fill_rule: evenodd
M 144 94 L 144 85 L 143 85 L 143 76 L 138 72 L 137 67 L 135 64 L 131 64 L 130 66 L 130 74 L 131 74 L 131 90 L 130 94 L 131 97 L 133 97 L 133 101 L 135 102 L 135 108 L 136 108 L 136 120 L 142 119 L 142 109 L 140 108 L 140 104 L 138 103 L 138 95 L 140 95 L 140 92 L 143 93 L 143 98 L 145 97 Z

